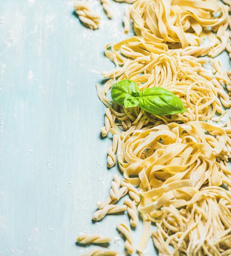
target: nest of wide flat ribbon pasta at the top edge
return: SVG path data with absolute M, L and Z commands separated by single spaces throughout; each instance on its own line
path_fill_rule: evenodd
M 229 19 L 225 5 L 213 0 L 140 0 L 132 6 L 131 17 L 136 35 L 162 50 L 168 45 L 199 46 L 210 34 L 208 26 L 222 35 Z M 220 26 L 224 23 L 225 29 Z

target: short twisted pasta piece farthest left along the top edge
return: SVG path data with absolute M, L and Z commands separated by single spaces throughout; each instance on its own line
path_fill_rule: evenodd
M 74 3 L 74 9 L 79 19 L 87 24 L 90 29 L 98 29 L 100 16 L 93 12 L 88 2 L 78 0 Z

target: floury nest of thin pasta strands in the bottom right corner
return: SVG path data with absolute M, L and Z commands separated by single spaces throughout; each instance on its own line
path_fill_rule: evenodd
M 231 192 L 205 187 L 185 206 L 180 210 L 172 205 L 161 208 L 158 229 L 152 232 L 159 255 L 230 255 Z

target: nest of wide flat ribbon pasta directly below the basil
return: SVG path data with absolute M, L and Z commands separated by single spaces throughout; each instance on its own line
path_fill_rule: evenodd
M 139 186 L 138 209 L 156 216 L 162 206 L 185 205 L 203 186 L 231 186 L 230 138 L 206 122 L 170 123 L 127 131 L 117 150 L 123 175 Z

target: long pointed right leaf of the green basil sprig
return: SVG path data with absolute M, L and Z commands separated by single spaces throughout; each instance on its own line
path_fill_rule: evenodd
M 143 89 L 139 101 L 140 108 L 156 116 L 186 111 L 181 99 L 162 87 Z

